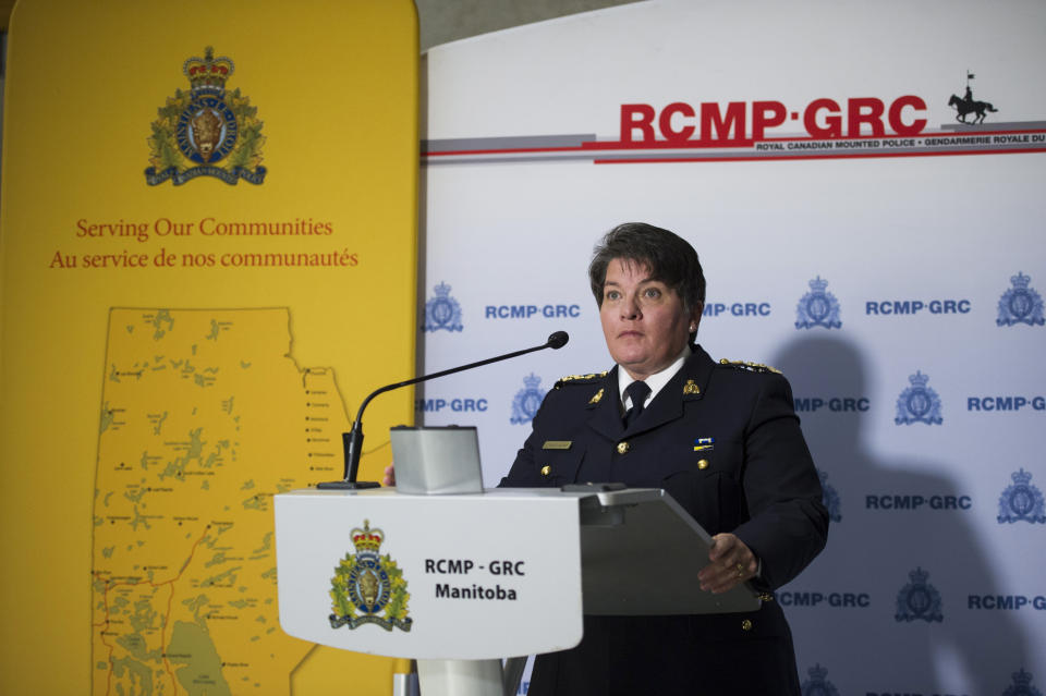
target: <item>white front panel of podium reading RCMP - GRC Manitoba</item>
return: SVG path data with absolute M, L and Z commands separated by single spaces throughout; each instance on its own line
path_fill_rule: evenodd
M 579 498 L 557 490 L 282 493 L 276 554 L 280 625 L 312 643 L 475 660 L 581 640 Z

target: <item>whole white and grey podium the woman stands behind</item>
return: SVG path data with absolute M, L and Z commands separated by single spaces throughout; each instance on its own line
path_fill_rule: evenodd
M 659 489 L 292 491 L 276 496 L 280 624 L 417 659 L 422 696 L 501 694 L 501 658 L 577 645 L 582 614 L 758 609 L 747 586 L 700 589 L 710 541 Z

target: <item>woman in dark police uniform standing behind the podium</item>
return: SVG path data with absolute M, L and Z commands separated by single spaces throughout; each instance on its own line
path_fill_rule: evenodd
M 538 656 L 530 694 L 798 696 L 791 634 L 770 593 L 824 548 L 828 515 L 788 382 L 714 363 L 693 343 L 705 280 L 676 234 L 619 225 L 588 273 L 616 365 L 557 382 L 501 486 L 664 488 L 714 535 L 702 589 L 751 582 L 765 601 L 749 613 L 586 616 L 577 647 Z M 554 441 L 571 445 L 545 449 Z

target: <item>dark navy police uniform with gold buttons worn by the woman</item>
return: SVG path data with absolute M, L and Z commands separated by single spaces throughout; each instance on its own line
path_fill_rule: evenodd
M 557 382 L 501 485 L 664 488 L 708 534 L 732 532 L 752 549 L 759 589 L 795 577 L 824 548 L 828 514 L 788 381 L 764 366 L 717 364 L 693 346 L 625 429 L 618 369 Z M 773 599 L 746 613 L 585 616 L 581 645 L 538 657 L 530 692 L 799 693 L 791 634 Z

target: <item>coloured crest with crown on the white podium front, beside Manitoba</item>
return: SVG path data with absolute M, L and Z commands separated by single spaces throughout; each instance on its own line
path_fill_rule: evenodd
M 393 626 L 410 631 L 414 620 L 408 615 L 411 596 L 403 571 L 388 554 L 378 553 L 385 533 L 372 529 L 370 521 L 364 520 L 363 528 L 356 527 L 351 534 L 356 552 L 339 561 L 330 579 L 330 627 L 353 630 L 375 623 L 386 631 Z

